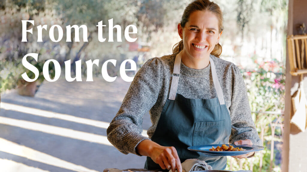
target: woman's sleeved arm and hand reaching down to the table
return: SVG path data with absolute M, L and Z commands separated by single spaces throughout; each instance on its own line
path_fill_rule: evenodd
M 118 113 L 107 129 L 107 138 L 124 154 L 149 156 L 162 169 L 182 172 L 174 147 L 161 146 L 142 136 L 143 116 L 156 103 L 163 82 L 161 59 L 148 60 L 136 73 Z

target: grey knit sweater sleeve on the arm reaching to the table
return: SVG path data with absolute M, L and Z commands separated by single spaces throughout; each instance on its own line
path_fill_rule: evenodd
M 139 155 L 135 148 L 142 140 L 149 139 L 141 134 L 143 116 L 157 101 L 162 68 L 159 58 L 151 58 L 139 69 L 119 111 L 107 129 L 110 143 L 124 154 Z

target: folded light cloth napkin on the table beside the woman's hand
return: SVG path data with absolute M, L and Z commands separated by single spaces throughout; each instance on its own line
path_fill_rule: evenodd
M 182 172 L 198 171 L 198 170 L 212 170 L 212 166 L 208 165 L 205 161 L 200 159 L 187 159 L 181 163 Z M 169 172 L 173 172 L 169 170 Z M 175 172 L 178 172 L 177 170 Z M 252 172 L 251 170 L 239 170 L 236 172 Z

